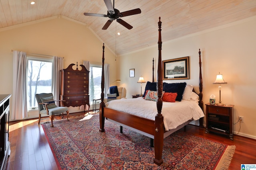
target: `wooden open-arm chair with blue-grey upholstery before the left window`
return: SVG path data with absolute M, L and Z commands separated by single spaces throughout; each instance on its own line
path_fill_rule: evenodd
M 39 119 L 38 119 L 38 125 L 40 124 L 41 114 L 49 115 L 51 122 L 54 119 L 54 115 L 59 115 L 66 111 L 67 113 L 67 120 L 68 120 L 68 107 L 58 107 L 56 106 L 56 101 L 62 101 L 62 100 L 54 100 L 52 93 L 41 93 L 36 94 L 36 100 L 38 103 L 38 111 L 39 111 Z M 51 125 L 53 127 L 53 124 Z

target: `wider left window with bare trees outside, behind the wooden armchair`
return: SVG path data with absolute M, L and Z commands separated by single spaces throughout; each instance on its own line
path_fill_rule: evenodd
M 52 59 L 27 56 L 27 107 L 37 109 L 35 94 L 52 92 Z

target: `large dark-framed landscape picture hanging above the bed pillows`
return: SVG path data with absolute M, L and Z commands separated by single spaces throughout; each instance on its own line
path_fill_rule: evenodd
M 189 79 L 189 57 L 163 61 L 163 80 Z

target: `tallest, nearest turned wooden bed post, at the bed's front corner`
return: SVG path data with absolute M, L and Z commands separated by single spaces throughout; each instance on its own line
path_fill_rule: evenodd
M 158 21 L 158 70 L 157 70 L 157 95 L 158 100 L 156 102 L 157 115 L 155 117 L 155 131 L 154 131 L 154 147 L 155 147 L 155 158 L 154 163 L 161 165 L 163 163 L 162 151 L 164 145 L 164 117 L 162 111 L 162 91 L 163 91 L 163 78 L 162 78 L 162 38 L 161 38 L 161 25 L 162 22 Z

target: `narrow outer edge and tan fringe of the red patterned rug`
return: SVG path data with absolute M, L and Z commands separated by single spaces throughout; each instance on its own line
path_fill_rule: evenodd
M 90 114 L 90 115 L 94 116 L 94 115 L 98 115 L 98 114 L 99 114 L 99 113 L 92 113 L 92 114 Z M 92 117 L 92 116 L 91 116 L 91 117 Z M 78 118 L 82 118 L 82 117 L 86 117 L 86 116 L 84 116 L 84 115 L 75 116 L 75 117 L 70 117 L 69 119 L 78 119 Z M 89 118 L 89 119 L 90 119 L 90 118 Z M 66 119 L 60 119 L 60 120 L 54 120 L 54 121 L 66 121 Z M 55 159 L 55 161 L 56 161 L 56 164 L 57 164 L 58 168 L 61 170 L 62 168 L 61 168 L 60 162 L 59 162 L 59 160 L 58 160 L 58 158 L 57 158 L 57 156 L 56 156 L 56 153 L 54 152 L 54 149 L 53 149 L 53 147 L 52 147 L 52 144 L 50 143 L 50 139 L 48 138 L 48 135 L 46 135 L 47 133 L 46 133 L 46 129 L 45 129 L 45 127 L 44 127 L 44 126 L 46 126 L 46 125 L 43 125 L 43 124 L 46 124 L 46 123 L 50 123 L 50 121 L 43 122 L 43 123 L 40 123 L 40 124 L 42 124 L 43 130 L 44 130 L 44 133 L 45 133 L 45 136 L 46 136 L 47 141 L 48 141 L 48 143 L 49 143 L 49 145 L 50 145 L 50 148 L 51 148 L 51 150 L 52 150 L 52 153 L 53 153 L 53 155 L 54 155 L 54 159 Z M 189 133 L 188 133 L 188 134 L 189 134 Z M 191 134 L 189 134 L 189 135 L 191 135 Z M 195 135 L 192 135 L 192 136 L 198 137 L 198 136 L 195 136 Z M 204 139 L 204 138 L 202 138 L 202 137 L 198 137 L 198 138 Z M 222 144 L 222 145 L 226 145 L 226 144 L 224 144 L 224 143 L 221 143 L 221 142 L 215 141 L 215 140 L 210 140 L 210 139 L 204 139 L 204 140 L 206 140 L 206 141 L 212 141 L 212 142 L 215 142 L 215 143 L 220 143 L 220 144 Z M 235 146 L 235 145 L 226 145 L 225 149 L 222 151 L 222 154 L 221 154 L 221 156 L 218 158 L 218 161 L 216 162 L 216 164 L 215 164 L 215 166 L 214 166 L 213 169 L 214 169 L 214 170 L 228 170 L 228 167 L 229 167 L 229 165 L 230 165 L 230 163 L 231 163 L 231 160 L 232 160 L 232 157 L 233 157 L 233 155 L 234 155 L 235 149 L 236 149 L 236 146 Z

